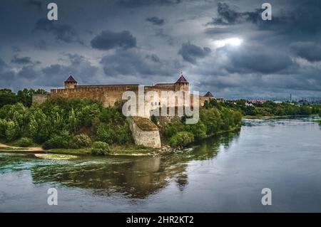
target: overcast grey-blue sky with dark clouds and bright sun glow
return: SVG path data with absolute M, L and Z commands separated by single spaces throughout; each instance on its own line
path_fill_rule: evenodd
M 321 1 L 1 0 L 0 88 L 175 82 L 225 98 L 321 98 Z M 58 21 L 46 17 L 58 4 Z

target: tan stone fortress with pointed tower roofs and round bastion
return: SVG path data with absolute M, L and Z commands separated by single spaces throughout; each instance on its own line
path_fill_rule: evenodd
M 175 97 L 175 102 L 169 102 L 170 97 L 165 99 L 161 98 L 161 93 L 167 92 L 178 92 L 188 93 L 188 98 L 190 99 L 190 107 L 193 107 L 194 99 L 198 99 L 198 105 L 203 106 L 205 100 L 210 100 L 213 95 L 208 92 L 204 96 L 193 95 L 189 93 L 189 83 L 188 80 L 181 73 L 180 78 L 175 83 L 157 83 L 151 86 L 140 86 L 138 84 L 121 84 L 121 85 L 78 85 L 77 81 L 72 75 L 69 75 L 68 79 L 64 82 L 64 88 L 61 89 L 51 89 L 51 92 L 46 95 L 34 95 L 33 103 L 41 104 L 46 100 L 55 99 L 58 97 L 65 98 L 81 98 L 98 100 L 103 103 L 104 107 L 112 107 L 115 102 L 123 100 L 123 93 L 127 91 L 132 91 L 135 94 L 139 94 L 139 90 L 143 88 L 143 94 L 146 95 L 148 92 L 157 93 L 160 97 L 157 102 L 151 102 L 151 100 L 144 99 L 144 108 L 147 106 L 147 111 L 144 115 L 128 117 L 128 123 L 133 134 L 133 139 L 136 144 L 142 145 L 144 147 L 161 147 L 161 137 L 158 131 L 158 127 L 153 124 L 149 119 L 151 115 L 151 110 L 156 110 L 160 107 L 179 107 L 181 104 L 185 104 L 185 97 Z M 180 100 L 179 100 L 180 99 Z M 139 103 L 138 103 L 139 105 Z M 136 105 L 137 108 L 138 105 Z M 171 105 L 171 106 L 170 106 Z M 145 110 L 145 109 L 144 109 Z M 147 113 L 147 114 L 146 114 Z M 146 125 L 151 125 L 151 127 L 146 128 Z

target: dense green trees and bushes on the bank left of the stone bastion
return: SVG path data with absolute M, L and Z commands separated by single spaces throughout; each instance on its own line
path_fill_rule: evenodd
M 28 107 L 21 102 L 0 108 L 0 139 L 41 144 L 45 149 L 91 147 L 93 142 L 132 144 L 121 104 L 103 107 L 96 100 L 57 98 Z

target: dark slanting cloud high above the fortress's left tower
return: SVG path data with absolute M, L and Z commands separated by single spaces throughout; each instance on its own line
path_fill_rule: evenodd
M 39 19 L 36 22 L 35 31 L 51 33 L 55 36 L 57 41 L 63 41 L 65 43 L 83 43 L 72 26 L 68 24 L 60 24 L 58 21 Z

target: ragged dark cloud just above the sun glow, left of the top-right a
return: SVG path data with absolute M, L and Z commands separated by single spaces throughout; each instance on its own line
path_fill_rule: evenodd
M 218 3 L 218 17 L 213 18 L 207 25 L 230 25 L 243 22 L 258 23 L 262 21 L 259 9 L 249 12 L 238 12 L 231 8 L 229 4 Z

